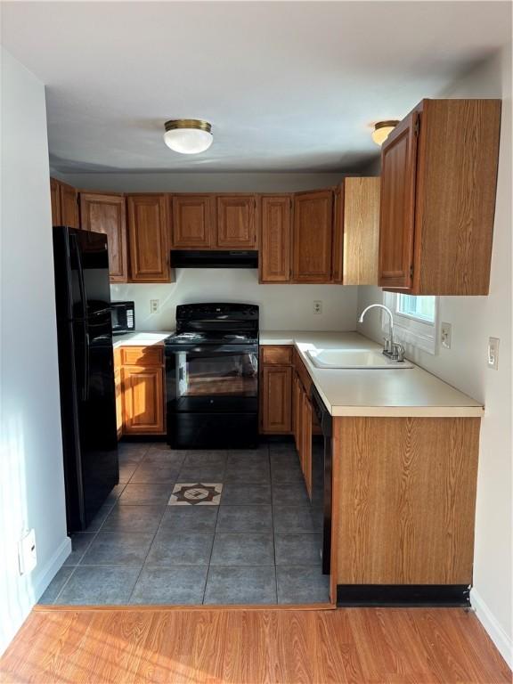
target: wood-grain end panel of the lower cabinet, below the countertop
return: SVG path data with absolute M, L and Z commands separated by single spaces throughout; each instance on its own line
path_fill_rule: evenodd
M 480 419 L 333 422 L 338 584 L 471 583 Z

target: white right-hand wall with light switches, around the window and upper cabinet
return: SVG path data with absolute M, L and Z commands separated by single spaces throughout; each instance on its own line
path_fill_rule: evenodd
M 419 365 L 485 403 L 477 482 L 473 605 L 496 645 L 511 658 L 511 50 L 469 72 L 443 97 L 502 97 L 501 152 L 488 297 L 440 297 L 440 321 L 452 324 L 452 348 L 417 351 Z M 434 95 L 436 96 L 436 95 Z M 414 105 L 414 102 L 411 103 Z M 382 301 L 361 288 L 358 310 Z M 381 340 L 379 315 L 364 334 Z M 489 337 L 501 338 L 499 371 L 486 367 Z

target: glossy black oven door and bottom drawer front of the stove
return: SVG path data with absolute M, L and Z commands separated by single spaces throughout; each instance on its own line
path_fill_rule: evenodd
M 258 346 L 166 346 L 167 436 L 175 449 L 258 440 Z

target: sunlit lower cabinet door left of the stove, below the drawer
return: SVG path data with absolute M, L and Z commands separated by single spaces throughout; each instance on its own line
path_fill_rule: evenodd
M 122 380 L 124 433 L 163 433 L 164 370 L 151 366 L 124 366 Z

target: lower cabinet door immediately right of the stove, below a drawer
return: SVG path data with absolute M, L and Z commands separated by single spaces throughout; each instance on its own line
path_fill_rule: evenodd
M 264 366 L 262 380 L 262 432 L 289 434 L 292 369 L 289 366 Z

